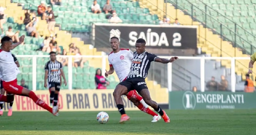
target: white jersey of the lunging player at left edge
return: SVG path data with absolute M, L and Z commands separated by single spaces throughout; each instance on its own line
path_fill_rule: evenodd
M 17 78 L 17 65 L 15 64 L 11 52 L 0 49 L 0 73 L 2 81 L 13 81 Z

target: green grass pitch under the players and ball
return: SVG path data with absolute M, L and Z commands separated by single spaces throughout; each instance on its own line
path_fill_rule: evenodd
M 170 123 L 151 123 L 152 116 L 141 111 L 126 111 L 131 117 L 119 124 L 118 111 L 106 111 L 107 124 L 96 120 L 98 112 L 7 111 L 0 117 L 0 135 L 253 135 L 256 134 L 256 110 L 166 110 Z

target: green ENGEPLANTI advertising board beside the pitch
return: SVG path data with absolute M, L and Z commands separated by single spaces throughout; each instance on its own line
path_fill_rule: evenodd
M 256 108 L 255 93 L 176 91 L 169 94 L 170 109 Z

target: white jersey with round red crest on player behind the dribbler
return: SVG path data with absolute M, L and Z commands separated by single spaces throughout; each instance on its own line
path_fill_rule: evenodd
M 121 48 L 119 52 L 108 54 L 108 63 L 117 73 L 119 81 L 123 81 L 130 72 L 133 52 L 129 49 Z

